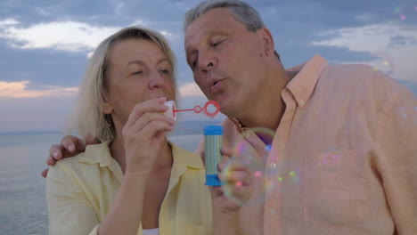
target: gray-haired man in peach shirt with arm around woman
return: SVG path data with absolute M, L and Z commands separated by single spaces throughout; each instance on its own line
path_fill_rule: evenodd
M 264 202 L 231 213 L 241 234 L 417 234 L 411 92 L 370 67 L 320 55 L 283 69 L 271 32 L 241 1 L 200 3 L 184 30 L 194 80 L 227 116 L 225 148 L 245 133 L 256 150 L 271 144 L 266 172 L 279 168 Z M 257 126 L 274 130 L 274 140 L 258 140 Z M 64 138 L 51 152 L 61 158 L 77 142 Z M 290 172 L 299 183 L 286 180 Z

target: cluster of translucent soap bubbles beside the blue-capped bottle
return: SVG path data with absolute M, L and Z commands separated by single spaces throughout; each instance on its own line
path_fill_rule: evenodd
M 233 156 L 227 162 L 223 174 L 231 174 L 233 166 L 244 166 L 251 174 L 254 192 L 248 201 L 241 201 L 233 192 L 236 188 L 244 186 L 244 182 L 223 182 L 226 197 L 236 204 L 261 204 L 272 194 L 279 182 L 299 182 L 296 171 L 281 172 L 279 156 L 276 156 L 278 151 L 272 147 L 273 141 L 274 131 L 267 128 L 251 128 L 241 134 L 240 139 L 234 144 Z M 270 154 L 274 156 L 269 156 Z

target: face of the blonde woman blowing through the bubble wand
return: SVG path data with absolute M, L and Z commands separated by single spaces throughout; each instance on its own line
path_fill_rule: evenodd
M 107 95 L 103 111 L 125 125 L 135 104 L 157 97 L 174 100 L 173 68 L 155 43 L 127 39 L 112 45 L 106 71 Z

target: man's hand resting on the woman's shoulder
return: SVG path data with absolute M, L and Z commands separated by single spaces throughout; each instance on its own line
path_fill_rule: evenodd
M 77 136 L 66 135 L 62 138 L 60 144 L 53 144 L 49 149 L 49 156 L 46 158 L 46 165 L 53 166 L 56 161 L 61 158 L 70 158 L 76 156 L 78 153 L 84 152 L 86 146 L 89 144 L 99 143 L 94 139 L 93 135 L 87 134 L 84 140 L 79 139 Z M 46 168 L 42 172 L 42 176 L 46 177 L 49 168 Z

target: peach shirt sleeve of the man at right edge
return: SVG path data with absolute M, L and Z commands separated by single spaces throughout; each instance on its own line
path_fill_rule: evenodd
M 385 107 L 377 139 L 383 188 L 398 234 L 417 234 L 417 101 L 402 88 Z

